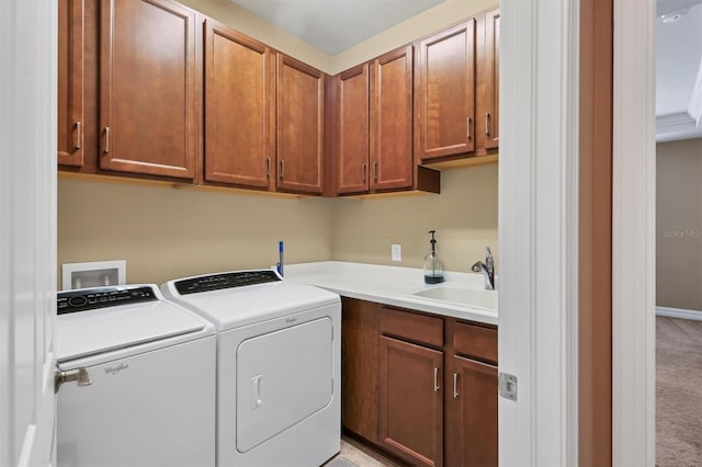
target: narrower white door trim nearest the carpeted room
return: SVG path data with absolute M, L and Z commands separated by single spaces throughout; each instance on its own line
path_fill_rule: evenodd
M 655 0 L 614 0 L 614 466 L 656 462 L 655 12 Z

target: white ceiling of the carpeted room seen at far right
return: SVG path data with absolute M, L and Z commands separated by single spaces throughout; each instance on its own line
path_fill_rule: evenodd
M 682 18 L 664 22 L 677 12 Z M 656 34 L 656 139 L 700 138 L 702 0 L 659 0 Z

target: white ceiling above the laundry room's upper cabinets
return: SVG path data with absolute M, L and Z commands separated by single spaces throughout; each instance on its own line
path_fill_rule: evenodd
M 231 0 L 329 55 L 445 0 Z

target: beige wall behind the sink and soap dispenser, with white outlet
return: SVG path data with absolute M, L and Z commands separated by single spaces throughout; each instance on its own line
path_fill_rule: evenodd
M 497 164 L 445 171 L 440 195 L 336 200 L 333 258 L 421 267 L 428 230 L 437 230 L 448 271 L 467 272 L 485 258 L 497 260 Z M 403 246 L 403 262 L 390 261 L 390 244 Z

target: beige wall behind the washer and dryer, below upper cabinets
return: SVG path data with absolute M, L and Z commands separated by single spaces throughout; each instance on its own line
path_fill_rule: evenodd
M 126 260 L 127 281 L 331 259 L 332 200 L 59 179 L 58 265 Z M 59 283 L 60 287 L 60 283 Z

